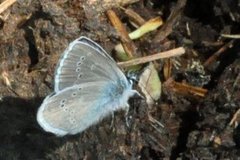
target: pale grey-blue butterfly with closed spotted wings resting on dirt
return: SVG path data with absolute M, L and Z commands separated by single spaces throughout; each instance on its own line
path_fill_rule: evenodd
M 60 58 L 54 92 L 39 107 L 37 121 L 47 132 L 74 135 L 114 111 L 128 108 L 128 99 L 135 94 L 139 93 L 113 58 L 82 36 Z

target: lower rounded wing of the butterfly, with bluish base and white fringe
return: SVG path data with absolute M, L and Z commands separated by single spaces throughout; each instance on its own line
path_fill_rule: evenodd
M 41 127 L 59 136 L 79 133 L 118 107 L 106 82 L 91 82 L 63 89 L 47 97 L 37 113 Z M 103 94 L 105 93 L 105 94 Z

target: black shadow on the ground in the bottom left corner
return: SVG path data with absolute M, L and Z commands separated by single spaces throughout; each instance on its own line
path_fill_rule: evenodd
M 45 133 L 36 121 L 42 99 L 5 97 L 0 102 L 0 159 L 39 159 L 63 144 Z

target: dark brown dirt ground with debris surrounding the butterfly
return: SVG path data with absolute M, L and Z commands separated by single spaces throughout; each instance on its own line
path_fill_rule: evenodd
M 240 159 L 239 1 L 120 2 L 19 0 L 0 14 L 1 160 Z M 129 126 L 119 111 L 112 126 L 110 116 L 75 136 L 44 132 L 36 112 L 53 91 L 60 55 L 82 35 L 113 54 L 120 40 L 105 11 L 113 9 L 127 31 L 134 29 L 121 5 L 146 21 L 163 19 L 163 26 L 134 41 L 141 56 L 186 49 L 183 56 L 155 62 L 161 98 L 152 107 L 131 99 Z M 189 92 L 183 83 L 199 91 Z

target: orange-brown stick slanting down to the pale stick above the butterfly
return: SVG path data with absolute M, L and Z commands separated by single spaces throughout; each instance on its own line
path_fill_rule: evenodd
M 108 10 L 107 15 L 112 25 L 117 30 L 120 40 L 122 42 L 123 48 L 128 55 L 128 58 L 136 57 L 136 47 L 133 41 L 128 36 L 128 32 L 125 26 L 122 24 L 121 20 L 118 18 L 113 10 Z

